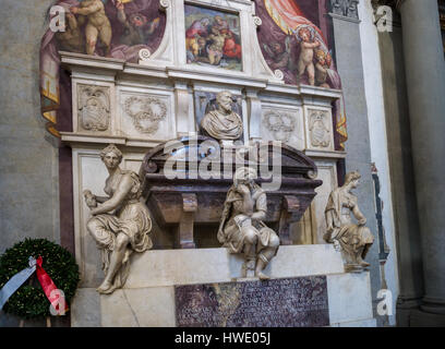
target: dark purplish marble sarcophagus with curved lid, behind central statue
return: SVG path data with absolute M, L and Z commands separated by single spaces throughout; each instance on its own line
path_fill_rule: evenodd
M 302 217 L 322 185 L 314 161 L 280 142 L 220 145 L 196 136 L 151 149 L 140 170 L 146 204 L 177 246 L 196 248 L 196 230 L 216 240 L 227 192 L 241 166 L 257 170 L 256 183 L 267 192 L 265 222 L 281 244 L 292 244 L 289 225 Z

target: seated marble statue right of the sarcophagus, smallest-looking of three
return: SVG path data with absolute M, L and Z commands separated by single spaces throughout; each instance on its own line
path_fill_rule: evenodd
M 351 270 L 370 265 L 363 258 L 374 242 L 373 234 L 364 226 L 366 218 L 359 209 L 357 196 L 351 193 L 360 177 L 357 171 L 346 174 L 345 184 L 330 193 L 325 209 L 327 232 L 324 240 L 341 250 L 346 267 Z M 351 213 L 358 224 L 352 222 Z

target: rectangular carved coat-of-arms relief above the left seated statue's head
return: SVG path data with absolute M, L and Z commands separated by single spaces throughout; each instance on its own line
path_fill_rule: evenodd
M 110 124 L 109 87 L 77 85 L 79 128 L 107 131 Z

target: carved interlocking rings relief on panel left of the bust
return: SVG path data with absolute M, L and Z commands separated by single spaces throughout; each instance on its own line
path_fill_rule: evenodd
M 166 104 L 154 97 L 129 97 L 125 99 L 124 110 L 133 119 L 134 128 L 146 134 L 156 133 L 159 121 L 167 117 Z

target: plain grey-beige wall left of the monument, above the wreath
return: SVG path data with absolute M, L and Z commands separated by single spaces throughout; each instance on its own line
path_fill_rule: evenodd
M 0 11 L 0 254 L 26 237 L 60 242 L 58 146 L 45 130 L 38 88 L 51 2 L 2 1 Z M 0 327 L 17 324 L 0 312 Z

